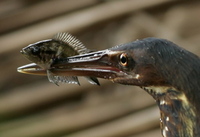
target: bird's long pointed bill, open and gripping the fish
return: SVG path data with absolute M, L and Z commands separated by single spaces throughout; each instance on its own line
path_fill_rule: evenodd
M 60 76 L 89 76 L 114 80 L 127 74 L 119 68 L 119 55 L 122 51 L 102 50 L 65 59 L 57 59 L 49 69 Z M 18 72 L 35 75 L 46 75 L 46 70 L 36 64 L 18 68 Z

